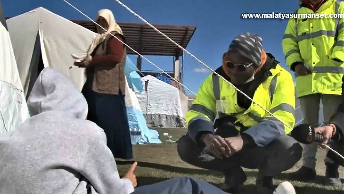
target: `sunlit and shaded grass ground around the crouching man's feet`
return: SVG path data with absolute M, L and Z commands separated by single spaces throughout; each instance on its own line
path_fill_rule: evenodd
M 162 133 L 169 133 L 173 136 L 174 140 L 179 139 L 185 134 L 185 129 L 158 129 L 160 139 L 163 144 L 160 145 L 135 145 L 134 160 L 138 162 L 136 168 L 136 176 L 138 180 L 138 186 L 153 184 L 167 180 L 169 178 L 179 176 L 192 176 L 205 180 L 214 185 L 223 183 L 224 179 L 221 173 L 199 169 L 197 167 L 186 164 L 181 161 L 177 152 L 175 143 L 167 143 L 165 140 L 166 136 Z M 344 186 L 333 187 L 324 186 L 321 183 L 323 175 L 325 174 L 324 159 L 325 150 L 319 150 L 317 172 L 319 174 L 316 181 L 313 183 L 290 181 L 294 186 L 298 194 L 343 194 Z M 132 161 L 120 161 L 116 160 L 120 175 L 124 175 L 129 169 Z M 297 164 L 301 166 L 301 161 Z M 288 172 L 293 172 L 298 169 L 294 166 L 293 169 Z M 255 193 L 255 176 L 257 171 L 245 169 L 248 180 L 245 183 L 243 194 L 254 194 Z M 280 177 L 275 178 L 275 183 L 279 183 L 282 180 L 286 180 L 286 174 L 283 173 Z M 344 177 L 344 169 L 340 168 L 341 177 Z

